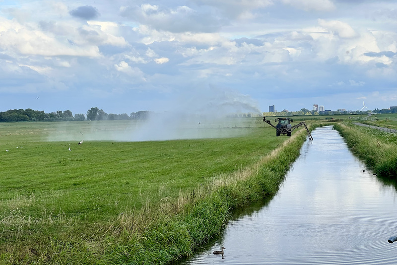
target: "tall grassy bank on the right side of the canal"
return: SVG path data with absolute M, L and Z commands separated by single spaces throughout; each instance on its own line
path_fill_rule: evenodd
M 334 128 L 343 136 L 347 145 L 377 175 L 397 178 L 397 136 L 395 133 L 337 124 Z

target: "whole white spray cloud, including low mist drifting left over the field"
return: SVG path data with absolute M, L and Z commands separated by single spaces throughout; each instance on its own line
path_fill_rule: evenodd
M 49 141 L 84 140 L 150 141 L 237 136 L 243 115 L 261 117 L 258 103 L 249 95 L 224 88 L 207 87 L 171 99 L 161 113 L 147 120 L 85 121 L 59 123 Z M 81 130 L 77 130 L 80 126 Z M 72 130 L 72 131 L 70 131 Z

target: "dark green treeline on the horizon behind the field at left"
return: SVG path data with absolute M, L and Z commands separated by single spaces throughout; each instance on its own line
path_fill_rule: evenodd
M 101 120 L 144 120 L 152 112 L 138 111 L 127 113 L 113 114 L 105 113 L 102 109 L 93 107 L 87 113 L 72 114 L 71 111 L 56 111 L 45 113 L 44 111 L 32 109 L 7 110 L 0 112 L 0 122 L 28 122 L 28 121 L 101 121 Z

